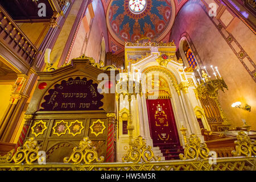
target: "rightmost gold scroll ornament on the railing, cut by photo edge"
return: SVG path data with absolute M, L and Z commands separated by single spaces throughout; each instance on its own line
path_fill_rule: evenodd
M 238 131 L 237 140 L 234 142 L 236 151 L 232 151 L 233 156 L 251 157 L 256 155 L 256 142 L 250 139 L 243 131 Z

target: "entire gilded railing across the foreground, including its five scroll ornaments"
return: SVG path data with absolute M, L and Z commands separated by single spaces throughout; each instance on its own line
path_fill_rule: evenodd
M 184 128 L 184 127 L 183 127 Z M 243 131 L 238 132 L 236 151 L 231 158 L 216 158 L 205 143 L 195 134 L 187 138 L 181 160 L 159 161 L 150 146 L 139 136 L 130 142 L 130 149 L 123 156 L 123 163 L 102 163 L 96 148 L 88 137 L 81 140 L 79 147 L 73 148 L 71 156 L 64 163 L 42 163 L 39 146 L 34 138 L 29 138 L 16 152 L 11 151 L 0 158 L 0 171 L 256 171 L 256 143 Z

